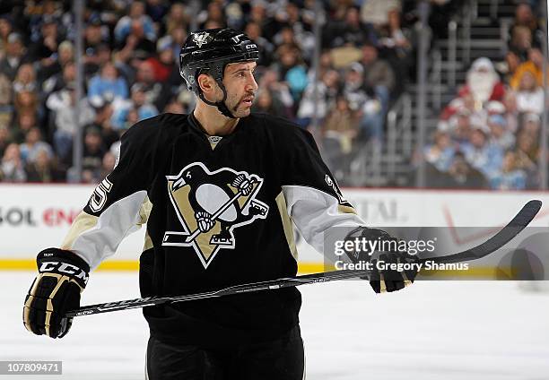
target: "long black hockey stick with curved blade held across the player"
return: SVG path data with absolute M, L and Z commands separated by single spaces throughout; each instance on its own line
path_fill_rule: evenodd
M 490 255 L 492 252 L 500 249 L 501 246 L 509 243 L 512 238 L 515 238 L 520 231 L 525 229 L 530 221 L 534 219 L 537 212 L 539 212 L 541 204 L 542 203 L 540 201 L 536 200 L 526 203 L 522 207 L 520 212 L 518 212 L 518 214 L 509 222 L 509 224 L 507 224 L 507 226 L 502 228 L 492 238 L 489 238 L 479 246 L 474 246 L 473 248 L 466 249 L 465 251 L 459 252 L 454 255 L 423 258 L 420 260 L 420 263 L 425 263 L 427 261 L 435 263 L 458 263 L 468 260 L 480 259 L 481 257 Z M 272 281 L 261 281 L 243 285 L 235 285 L 225 289 L 206 291 L 204 293 L 197 294 L 189 294 L 186 296 L 135 298 L 127 299 L 124 301 L 108 302 L 106 304 L 80 307 L 76 310 L 71 310 L 67 312 L 65 316 L 71 317 L 108 313 L 110 311 L 126 310 L 135 307 L 150 307 L 166 303 L 190 301 L 193 299 L 222 297 L 231 294 L 248 293 L 267 289 L 282 289 L 311 283 L 352 279 L 356 277 L 366 277 L 369 275 L 370 271 L 352 270 L 313 273 L 304 276 L 288 277 Z

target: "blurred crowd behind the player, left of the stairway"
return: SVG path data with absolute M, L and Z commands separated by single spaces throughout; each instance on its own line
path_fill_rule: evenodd
M 388 108 L 413 77 L 416 2 L 322 2 L 318 73 L 316 3 L 86 1 L 83 97 L 76 99 L 73 2 L 0 2 L 0 181 L 74 180 L 76 105 L 83 181 L 100 181 L 128 127 L 162 112 L 192 111 L 179 49 L 191 29 L 225 26 L 245 30 L 261 49 L 253 110 L 311 129 L 341 177 L 344 159 L 364 142 L 383 142 Z M 444 11 L 438 16 L 456 4 L 432 0 Z

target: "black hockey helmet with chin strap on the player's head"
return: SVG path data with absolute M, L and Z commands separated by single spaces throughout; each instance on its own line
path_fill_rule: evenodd
M 193 91 L 210 106 L 216 106 L 226 117 L 235 118 L 225 105 L 227 91 L 223 86 L 225 66 L 236 62 L 257 61 L 259 49 L 249 37 L 230 28 L 196 30 L 188 36 L 179 53 L 179 73 Z M 223 91 L 223 99 L 211 102 L 205 99 L 198 75 L 208 73 Z

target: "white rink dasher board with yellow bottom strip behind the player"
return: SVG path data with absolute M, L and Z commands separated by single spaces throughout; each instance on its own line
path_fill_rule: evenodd
M 0 270 L 32 269 L 39 250 L 59 246 L 94 186 L 0 184 Z M 414 189 L 343 189 L 369 227 L 502 226 L 530 199 L 549 205 L 549 192 L 440 191 Z M 549 206 L 548 206 L 549 207 Z M 542 208 L 531 225 L 549 225 Z M 127 237 L 103 266 L 135 270 L 144 245 L 144 228 Z M 321 269 L 322 255 L 298 238 L 304 272 Z

